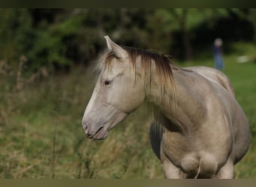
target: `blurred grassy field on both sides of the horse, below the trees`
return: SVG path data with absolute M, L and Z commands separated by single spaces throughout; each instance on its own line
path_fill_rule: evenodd
M 240 105 L 249 118 L 252 144 L 236 165 L 236 177 L 256 178 L 256 46 L 234 44 L 225 55 L 225 69 Z M 213 66 L 211 57 L 180 66 Z M 0 178 L 162 178 L 161 164 L 149 142 L 149 112 L 142 105 L 115 127 L 109 138 L 85 138 L 81 126 L 94 88 L 91 68 L 70 73 L 28 76 L 23 70 L 0 73 Z

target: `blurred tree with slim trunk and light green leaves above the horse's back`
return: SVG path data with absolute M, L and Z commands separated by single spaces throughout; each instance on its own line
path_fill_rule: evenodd
M 165 28 L 170 32 L 180 32 L 183 43 L 183 56 L 186 60 L 192 59 L 192 29 L 196 28 L 202 22 L 208 22 L 213 26 L 216 19 L 228 16 L 228 11 L 223 8 L 218 9 L 198 9 L 198 8 L 168 8 L 156 10 L 157 14 L 165 22 Z

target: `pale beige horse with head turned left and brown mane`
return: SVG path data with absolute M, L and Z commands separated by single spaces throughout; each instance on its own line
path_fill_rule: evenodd
M 109 52 L 82 117 L 87 138 L 109 131 L 143 102 L 150 104 L 150 144 L 165 178 L 234 178 L 249 150 L 246 114 L 228 77 L 211 67 L 174 65 L 168 55 L 119 46 Z

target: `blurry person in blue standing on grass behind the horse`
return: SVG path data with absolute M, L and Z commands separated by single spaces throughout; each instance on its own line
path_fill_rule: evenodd
M 224 67 L 224 62 L 222 58 L 221 46 L 222 39 L 216 38 L 213 43 L 213 55 L 214 55 L 214 65 L 217 70 L 222 70 Z

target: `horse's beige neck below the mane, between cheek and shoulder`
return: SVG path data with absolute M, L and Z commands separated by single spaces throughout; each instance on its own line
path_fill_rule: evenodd
M 179 68 L 173 70 L 175 88 L 168 88 L 175 91 L 174 94 L 161 96 L 157 77 L 153 76 L 150 91 L 147 93 L 147 101 L 155 106 L 155 118 L 160 120 L 162 125 L 174 131 L 190 131 L 200 124 L 204 119 L 205 108 L 202 98 L 194 88 L 193 75 L 189 75 Z M 169 98 L 176 96 L 176 98 Z M 204 99 L 204 98 L 203 98 Z M 157 108 L 157 109 L 156 109 Z M 192 127 L 193 126 L 193 127 Z

